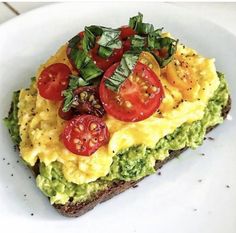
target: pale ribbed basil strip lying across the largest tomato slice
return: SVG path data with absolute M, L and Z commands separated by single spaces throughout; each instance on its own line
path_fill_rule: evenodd
M 125 79 L 131 74 L 132 70 L 134 69 L 139 54 L 137 52 L 126 52 L 121 61 L 119 66 L 116 68 L 115 72 L 111 77 L 105 80 L 105 85 L 112 91 L 117 92 L 121 84 L 125 81 Z

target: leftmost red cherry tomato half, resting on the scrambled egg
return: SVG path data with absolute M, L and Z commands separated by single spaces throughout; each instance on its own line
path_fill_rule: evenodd
M 63 100 L 62 91 L 68 86 L 70 74 L 70 68 L 63 63 L 48 66 L 38 79 L 39 94 L 48 100 Z

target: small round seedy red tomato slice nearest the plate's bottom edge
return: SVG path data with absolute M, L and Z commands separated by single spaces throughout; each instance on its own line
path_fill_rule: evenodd
M 72 153 L 89 156 L 109 141 L 109 131 L 101 118 L 81 115 L 67 122 L 61 138 Z

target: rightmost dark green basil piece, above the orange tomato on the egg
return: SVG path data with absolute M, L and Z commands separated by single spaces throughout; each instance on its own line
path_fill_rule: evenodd
M 172 60 L 173 55 L 177 49 L 177 44 L 178 40 L 174 40 L 170 37 L 163 37 L 156 39 L 154 49 L 157 50 L 164 49 L 166 52 L 166 55 L 163 57 L 163 56 L 158 56 L 157 53 L 151 51 L 161 68 L 165 67 Z

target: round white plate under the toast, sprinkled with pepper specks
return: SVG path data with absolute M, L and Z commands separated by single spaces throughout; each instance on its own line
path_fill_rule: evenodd
M 210 134 L 214 141 L 166 165 L 161 176 L 145 179 L 78 219 L 62 217 L 49 205 L 28 169 L 16 162 L 18 154 L 1 124 L 1 231 L 236 232 L 236 38 L 207 20 L 171 5 L 141 2 L 58 4 L 19 16 L 0 26 L 0 118 L 9 109 L 12 91 L 26 87 L 37 67 L 85 25 L 124 25 L 138 11 L 145 21 L 216 58 L 230 86 L 233 120 Z

